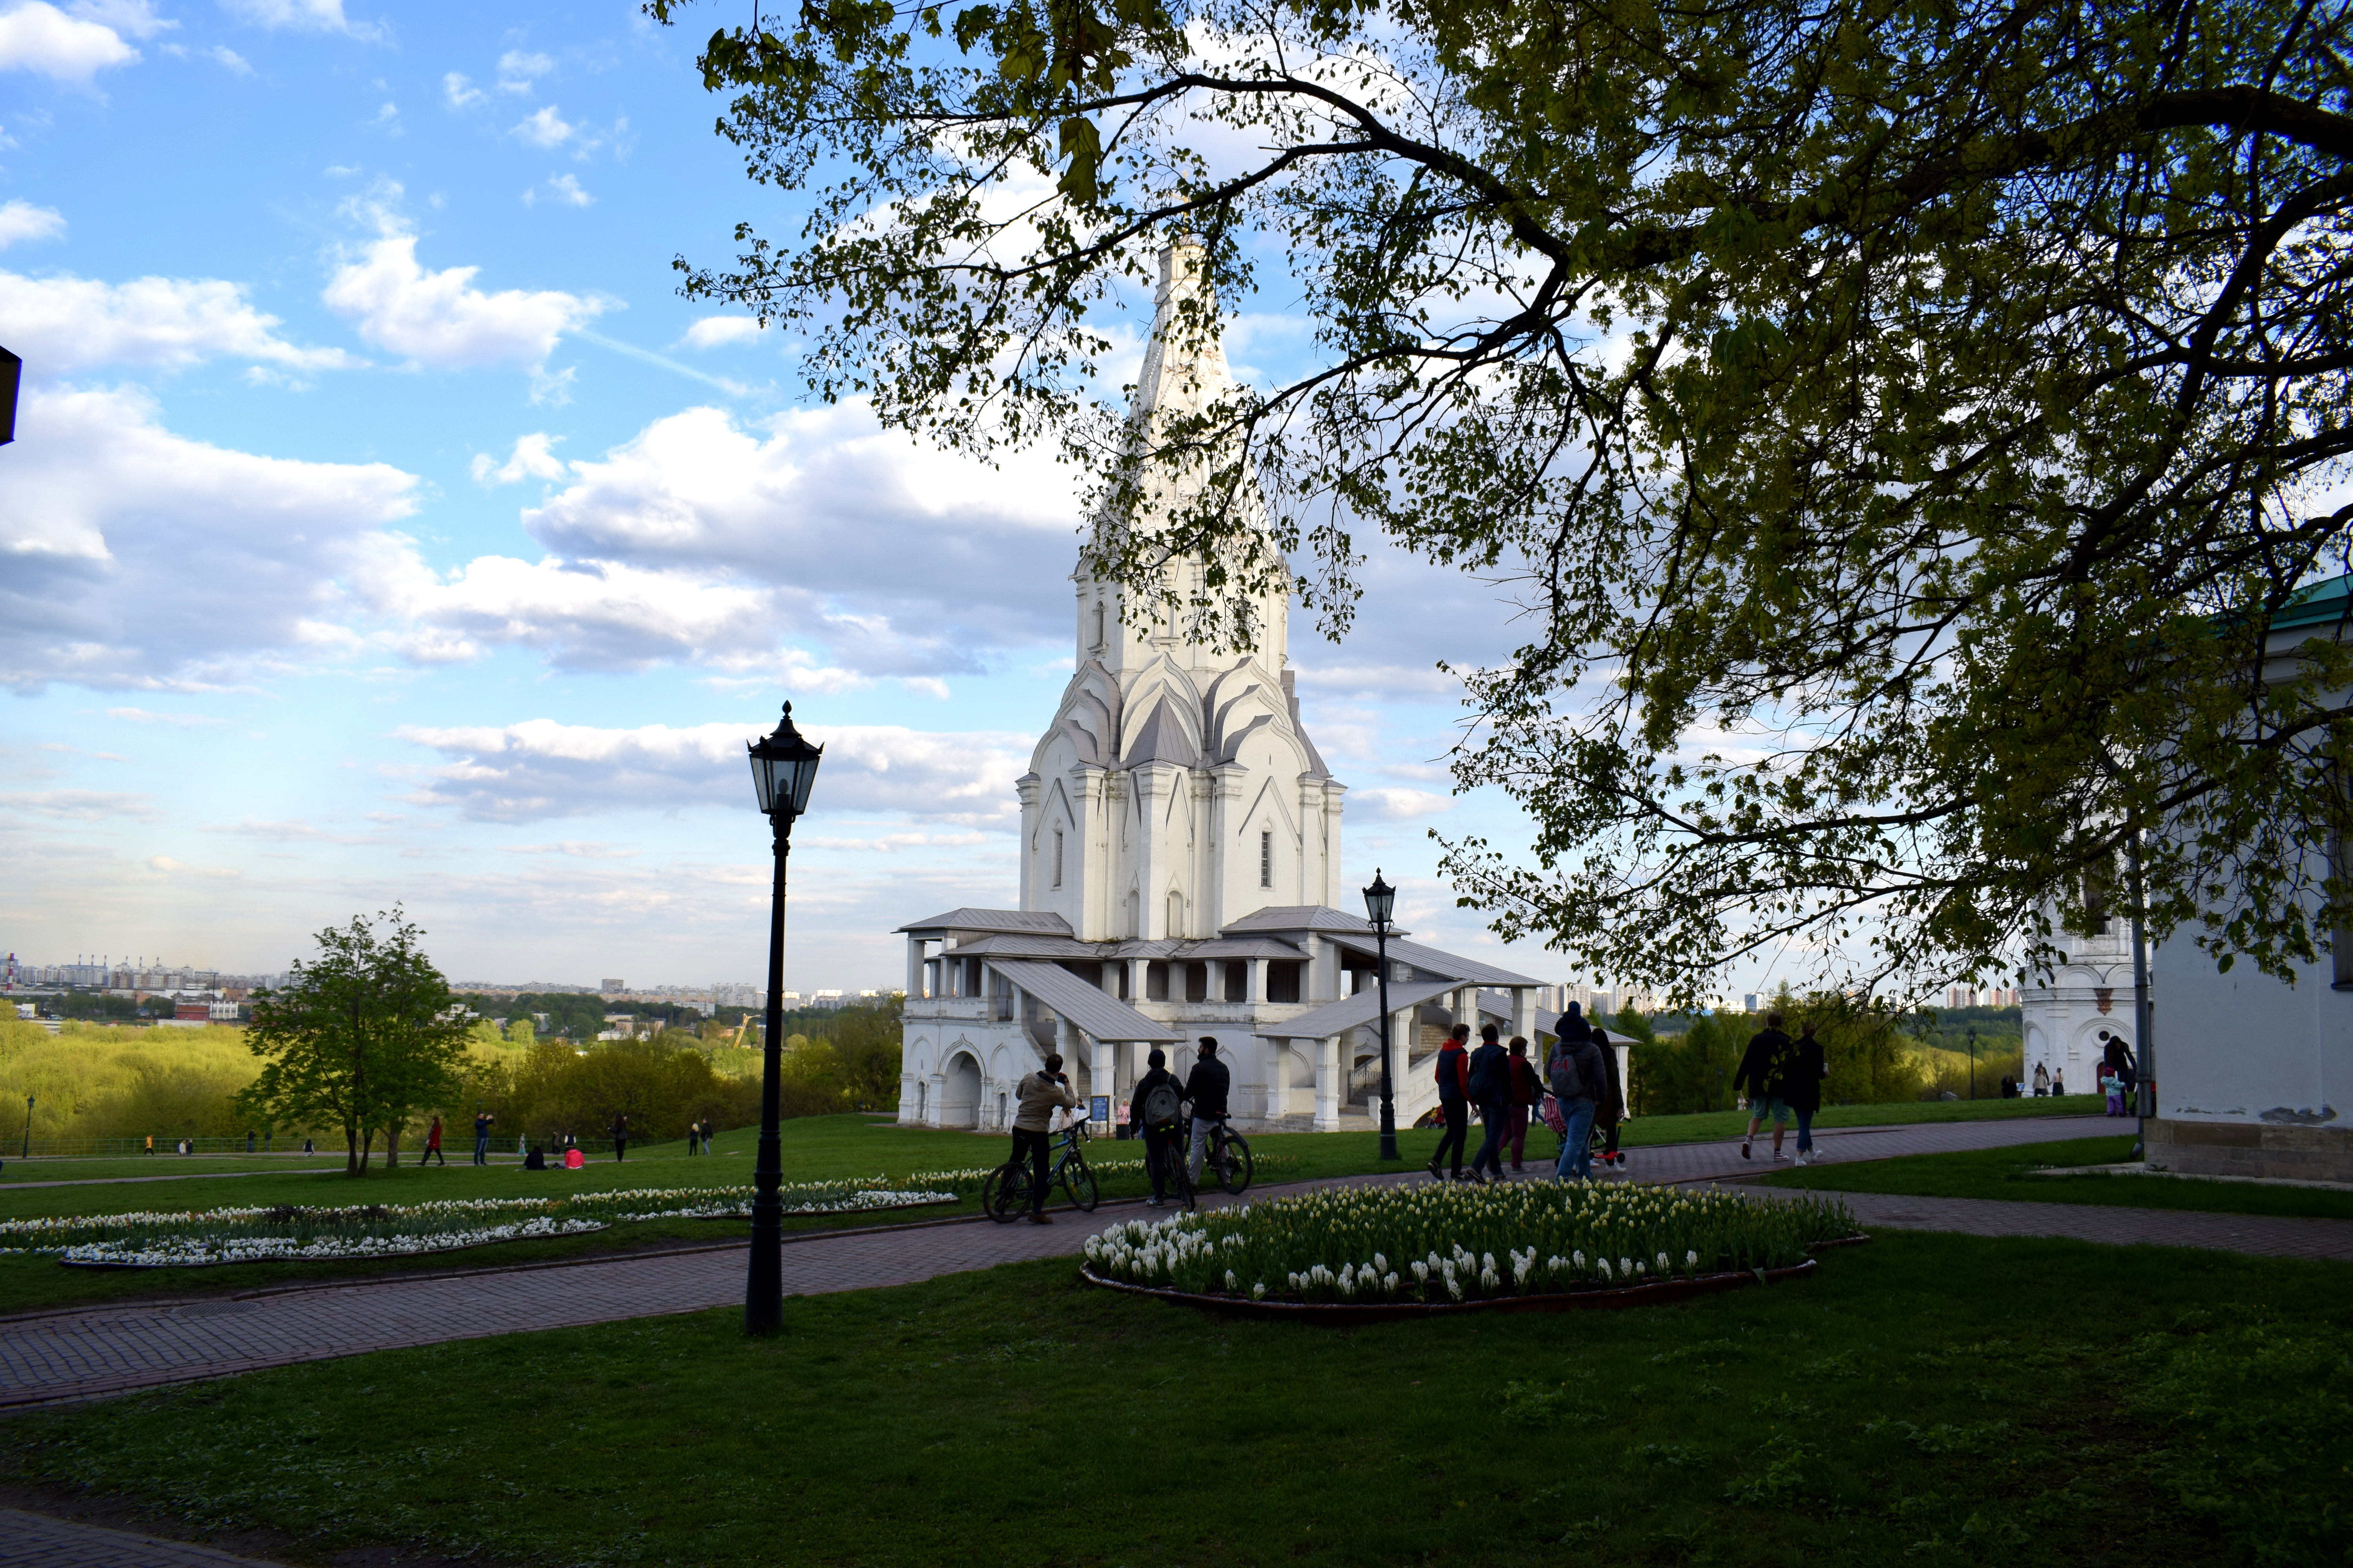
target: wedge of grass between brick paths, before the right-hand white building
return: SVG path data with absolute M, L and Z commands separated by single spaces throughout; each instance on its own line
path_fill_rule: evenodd
M 1941 1199 L 2009 1199 L 2031 1204 L 2118 1204 L 2195 1213 L 2304 1215 L 2353 1220 L 2353 1192 L 2318 1187 L 2257 1187 L 2200 1182 L 2174 1175 L 2028 1175 L 2042 1166 L 2113 1166 L 2132 1159 L 2132 1135 L 2033 1143 L 1960 1154 L 1904 1154 L 1857 1164 L 1807 1166 L 1762 1178 L 1769 1187 L 1807 1192 L 1899 1192 Z

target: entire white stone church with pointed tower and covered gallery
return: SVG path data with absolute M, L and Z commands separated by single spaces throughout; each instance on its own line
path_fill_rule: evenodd
M 1202 252 L 1160 256 L 1153 341 L 1132 409 L 1151 433 L 1233 381 L 1217 343 L 1176 329 Z M 1181 484 L 1181 482 L 1179 482 Z M 1162 484 L 1153 508 L 1174 508 Z M 899 1121 L 993 1131 L 1014 1084 L 1059 1051 L 1082 1105 L 1125 1119 L 1153 1046 L 1181 1074 L 1212 1034 L 1240 1126 L 1339 1128 L 1379 1114 L 1372 926 L 1341 879 L 1346 785 L 1299 712 L 1289 597 L 1257 607 L 1257 649 L 1212 654 L 1167 623 L 1132 625 L 1115 583 L 1073 574 L 1078 670 L 1031 752 L 1021 907 L 901 926 L 906 1034 Z M 1360 907 L 1360 905 L 1358 905 Z M 1388 940 L 1398 1126 L 1435 1098 L 1447 1025 L 1537 1037 L 1553 987 Z M 1546 1018 L 1551 1023 L 1551 1018 Z

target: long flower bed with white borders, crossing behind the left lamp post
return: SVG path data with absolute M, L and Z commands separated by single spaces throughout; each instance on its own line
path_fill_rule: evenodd
M 0 1222 L 0 1253 L 47 1253 L 82 1267 L 207 1267 L 219 1262 L 405 1258 L 492 1241 L 576 1237 L 628 1220 L 725 1220 L 751 1213 L 751 1187 L 638 1187 L 567 1197 L 440 1199 L 358 1208 L 205 1208 L 191 1213 L 59 1215 Z M 864 1213 L 953 1204 L 953 1192 L 880 1178 L 798 1182 L 786 1213 Z

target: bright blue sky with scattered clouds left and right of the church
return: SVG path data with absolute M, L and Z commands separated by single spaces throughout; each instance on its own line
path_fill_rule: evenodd
M 774 334 L 675 296 L 673 256 L 793 228 L 687 21 L 0 0 L 5 947 L 282 969 L 405 900 L 456 978 L 758 980 L 741 745 L 784 696 L 831 748 L 791 985 L 896 983 L 892 926 L 1016 903 L 1073 482 L 809 407 Z M 1247 306 L 1235 367 L 1280 374 L 1304 322 Z M 1346 644 L 1292 637 L 1351 886 L 1494 947 L 1426 835 L 1520 837 L 1445 795 L 1433 670 L 1504 607 L 1369 578 Z

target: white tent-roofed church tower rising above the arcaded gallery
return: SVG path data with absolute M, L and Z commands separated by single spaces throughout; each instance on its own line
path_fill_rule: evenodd
M 1233 388 L 1224 348 L 1179 324 L 1202 261 L 1195 242 L 1160 254 L 1129 414 L 1146 437 Z M 1151 531 L 1195 487 L 1151 475 L 1134 527 Z M 1245 505 L 1261 508 L 1257 491 Z M 1021 907 L 1061 914 L 1080 940 L 1120 940 L 1207 938 L 1266 905 L 1329 905 L 1346 788 L 1299 722 L 1289 595 L 1261 595 L 1249 654 L 1214 654 L 1165 621 L 1129 625 L 1120 588 L 1085 567 L 1073 583 L 1078 670 L 1016 785 Z

